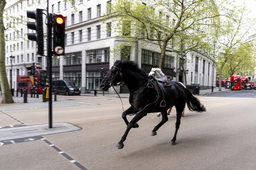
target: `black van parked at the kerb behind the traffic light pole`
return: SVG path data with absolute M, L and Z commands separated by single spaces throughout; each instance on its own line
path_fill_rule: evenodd
M 81 94 L 81 88 L 71 80 L 52 80 L 52 91 L 56 89 L 57 94 Z

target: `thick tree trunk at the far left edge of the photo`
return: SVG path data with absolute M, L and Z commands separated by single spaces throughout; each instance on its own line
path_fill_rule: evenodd
M 3 22 L 5 3 L 5 0 L 0 0 L 0 84 L 2 91 L 2 103 L 14 103 L 5 71 L 5 41 Z

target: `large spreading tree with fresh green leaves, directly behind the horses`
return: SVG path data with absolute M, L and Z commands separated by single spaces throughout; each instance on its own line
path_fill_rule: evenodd
M 205 42 L 210 39 L 210 36 L 207 37 L 210 35 L 208 28 L 218 24 L 220 14 L 213 0 L 143 2 L 118 0 L 108 7 L 112 13 L 107 14 L 104 21 L 111 18 L 116 32 L 129 40 L 126 43 L 146 40 L 144 42 L 157 44 L 161 49 L 159 68 L 164 66 L 166 52 L 182 54 L 196 48 L 206 48 Z M 171 48 L 167 49 L 167 46 Z

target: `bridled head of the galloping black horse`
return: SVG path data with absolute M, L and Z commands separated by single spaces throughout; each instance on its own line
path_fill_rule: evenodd
M 121 73 L 121 66 L 122 66 L 122 60 L 116 60 L 114 65 L 108 70 L 105 77 L 100 82 L 100 87 L 102 90 L 106 91 L 111 86 L 117 85 L 118 82 L 122 81 L 122 73 Z

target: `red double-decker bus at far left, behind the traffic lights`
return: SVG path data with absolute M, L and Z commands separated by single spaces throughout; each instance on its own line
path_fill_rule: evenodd
M 28 75 L 18 75 L 17 76 L 17 88 L 25 90 L 28 89 L 28 93 L 31 92 L 31 88 L 35 86 L 38 88 L 38 92 L 42 93 L 47 78 L 47 70 L 35 70 L 35 82 L 34 82 L 34 75 L 31 75 L 31 71 L 28 71 Z

